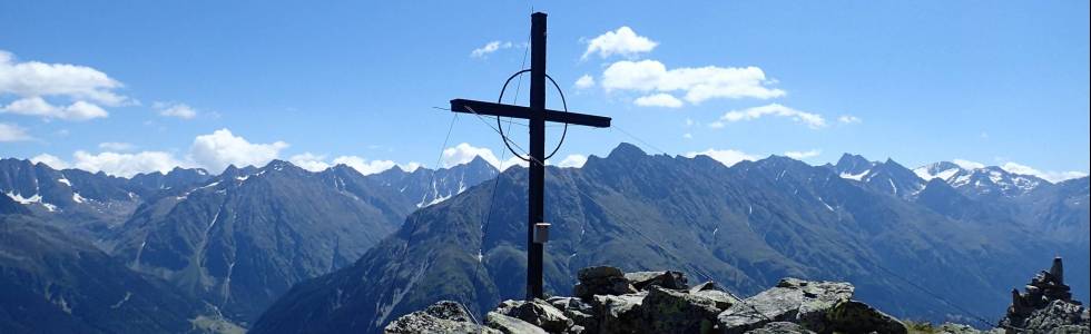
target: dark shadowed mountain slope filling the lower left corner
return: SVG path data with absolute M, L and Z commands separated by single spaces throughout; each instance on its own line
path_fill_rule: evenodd
M 0 215 L 0 332 L 198 332 L 200 305 L 56 227 Z

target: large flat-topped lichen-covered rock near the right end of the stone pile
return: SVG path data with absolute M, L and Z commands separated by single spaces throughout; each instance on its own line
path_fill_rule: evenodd
M 717 316 L 723 333 L 745 333 L 770 322 L 822 323 L 825 313 L 853 296 L 848 283 L 784 278 L 777 286 L 733 305 Z

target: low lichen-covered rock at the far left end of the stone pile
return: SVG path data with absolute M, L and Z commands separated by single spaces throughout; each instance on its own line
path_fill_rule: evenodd
M 425 333 L 485 333 L 500 334 L 499 331 L 480 326 L 471 322 L 470 314 L 455 302 L 441 301 L 424 311 L 413 312 L 399 317 L 383 328 L 386 334 L 425 334 Z

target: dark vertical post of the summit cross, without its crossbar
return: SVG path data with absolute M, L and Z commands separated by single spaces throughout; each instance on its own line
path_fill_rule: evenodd
M 546 222 L 546 13 L 530 16 L 530 193 L 527 198 L 527 299 L 542 297 L 544 244 L 534 224 Z

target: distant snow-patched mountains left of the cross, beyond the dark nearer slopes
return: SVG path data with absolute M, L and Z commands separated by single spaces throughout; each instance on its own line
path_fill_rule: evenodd
M 217 176 L 176 168 L 118 178 L 3 159 L 0 208 L 4 222 L 32 216 L 42 228 L 94 244 L 129 274 L 246 326 L 293 284 L 353 263 L 421 203 L 498 173 L 480 158 L 368 176 L 344 165 L 311 173 L 274 160 Z M 32 279 L 63 279 L 39 274 Z

